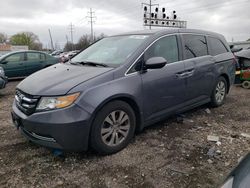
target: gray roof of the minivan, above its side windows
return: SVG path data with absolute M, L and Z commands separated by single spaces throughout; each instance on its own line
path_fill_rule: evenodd
M 172 33 L 196 33 L 196 34 L 203 34 L 203 35 L 212 35 L 216 37 L 222 37 L 221 34 L 211 32 L 211 31 L 205 31 L 205 30 L 199 30 L 199 29 L 184 29 L 184 28 L 168 28 L 168 29 L 151 29 L 151 30 L 139 30 L 139 31 L 132 31 L 122 34 L 117 34 L 113 36 L 122 36 L 122 35 L 166 35 L 166 34 L 172 34 Z

